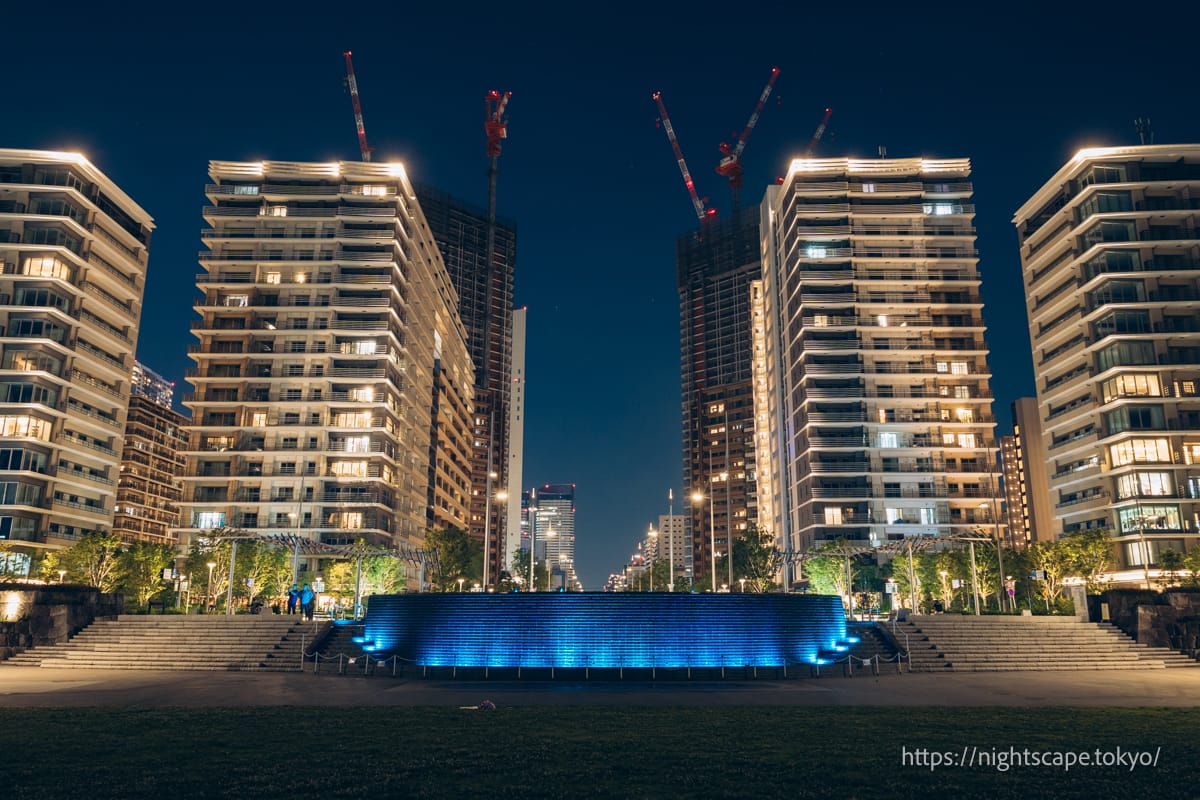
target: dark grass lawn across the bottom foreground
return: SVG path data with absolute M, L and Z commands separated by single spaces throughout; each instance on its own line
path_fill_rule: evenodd
M 1193 709 L 0 709 L 0 798 L 1158 800 L 1200 795 L 1198 729 Z M 964 747 L 1162 750 L 1133 771 L 901 763 Z

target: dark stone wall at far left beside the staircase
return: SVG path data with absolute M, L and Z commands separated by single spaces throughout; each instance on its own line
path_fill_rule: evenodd
M 124 608 L 122 595 L 91 587 L 0 584 L 0 661 L 66 642 L 96 619 L 116 616 Z

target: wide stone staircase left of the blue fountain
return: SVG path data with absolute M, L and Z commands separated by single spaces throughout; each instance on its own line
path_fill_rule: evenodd
M 312 640 L 313 627 L 276 614 L 122 614 L 96 620 L 68 642 L 26 650 L 0 668 L 300 672 L 301 642 Z

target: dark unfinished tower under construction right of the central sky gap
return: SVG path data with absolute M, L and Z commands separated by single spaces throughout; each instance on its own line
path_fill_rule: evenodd
M 730 531 L 757 519 L 750 284 L 761 275 L 756 207 L 676 242 L 684 491 L 706 497 L 688 506 L 697 578 L 712 563 L 710 523 L 726 552 Z

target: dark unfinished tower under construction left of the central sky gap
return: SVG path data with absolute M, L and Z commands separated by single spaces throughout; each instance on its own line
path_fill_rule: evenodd
M 475 368 L 468 533 L 488 543 L 488 576 L 498 576 L 504 565 L 508 515 L 500 512 L 494 494 L 503 487 L 520 486 L 510 482 L 506 475 L 510 467 L 508 405 L 512 375 L 516 224 L 505 219 L 496 223 L 494 246 L 488 258 L 485 209 L 476 209 L 421 184 L 416 185 L 416 197 L 458 293 L 458 315 L 467 329 L 470 360 Z M 496 477 L 490 480 L 488 473 L 494 473 Z M 491 515 L 488 488 L 493 494 Z M 492 530 L 485 537 L 484 528 L 488 522 Z

